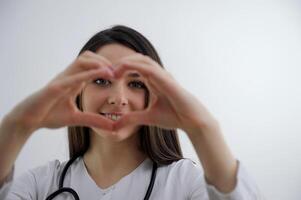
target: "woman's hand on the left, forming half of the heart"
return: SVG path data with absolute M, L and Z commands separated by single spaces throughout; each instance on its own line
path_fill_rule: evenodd
M 80 111 L 76 96 L 84 86 L 99 77 L 111 78 L 112 63 L 106 58 L 86 51 L 45 87 L 27 97 L 9 112 L 6 118 L 22 129 L 93 126 L 112 130 L 112 120 L 100 114 Z

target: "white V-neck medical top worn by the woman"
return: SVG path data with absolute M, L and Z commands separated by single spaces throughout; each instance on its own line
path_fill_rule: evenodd
M 31 169 L 14 178 L 14 170 L 0 188 L 1 200 L 45 200 L 58 189 L 59 177 L 65 162 L 54 160 Z M 239 162 L 237 185 L 227 194 L 206 183 L 199 166 L 190 159 L 160 166 L 151 200 L 262 200 L 256 184 Z M 100 188 L 87 172 L 82 157 L 77 158 L 67 171 L 64 187 L 71 187 L 81 200 L 142 200 L 147 191 L 152 172 L 152 161 L 147 158 L 134 171 L 117 183 Z M 61 193 L 55 200 L 73 200 L 69 193 Z

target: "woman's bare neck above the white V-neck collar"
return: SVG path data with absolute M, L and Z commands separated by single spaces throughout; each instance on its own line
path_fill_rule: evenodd
M 115 142 L 91 131 L 91 145 L 83 159 L 90 176 L 96 182 L 111 179 L 112 182 L 129 174 L 147 157 L 139 150 L 139 135 Z M 104 184 L 105 185 L 105 184 Z

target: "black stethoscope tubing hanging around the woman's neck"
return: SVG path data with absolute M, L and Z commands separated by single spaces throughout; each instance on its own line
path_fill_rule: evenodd
M 72 188 L 69 188 L 69 187 L 63 187 L 66 172 L 67 172 L 68 168 L 70 167 L 70 165 L 73 163 L 73 161 L 75 161 L 76 159 L 77 159 L 77 156 L 75 156 L 74 158 L 70 159 L 67 162 L 66 166 L 63 169 L 62 175 L 60 177 L 59 189 L 57 191 L 53 192 L 52 194 L 50 194 L 46 198 L 46 200 L 51 200 L 51 199 L 55 198 L 57 195 L 59 195 L 60 193 L 63 193 L 63 192 L 69 192 L 69 193 L 72 194 L 72 196 L 74 197 L 75 200 L 79 200 L 79 196 L 75 192 L 75 190 L 73 190 Z M 144 200 L 148 200 L 151 193 L 152 193 L 152 191 L 153 191 L 153 187 L 154 187 L 154 183 L 155 183 L 156 175 L 157 175 L 157 168 L 158 168 L 157 163 L 153 162 L 152 176 L 151 176 L 151 180 L 150 180 L 150 183 L 148 185 L 148 189 L 147 189 L 147 192 L 145 194 Z

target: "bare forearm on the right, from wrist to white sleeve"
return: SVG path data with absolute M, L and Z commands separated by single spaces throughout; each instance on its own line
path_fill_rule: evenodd
M 236 186 L 237 161 L 227 146 L 216 120 L 185 130 L 202 163 L 206 181 L 223 193 Z

